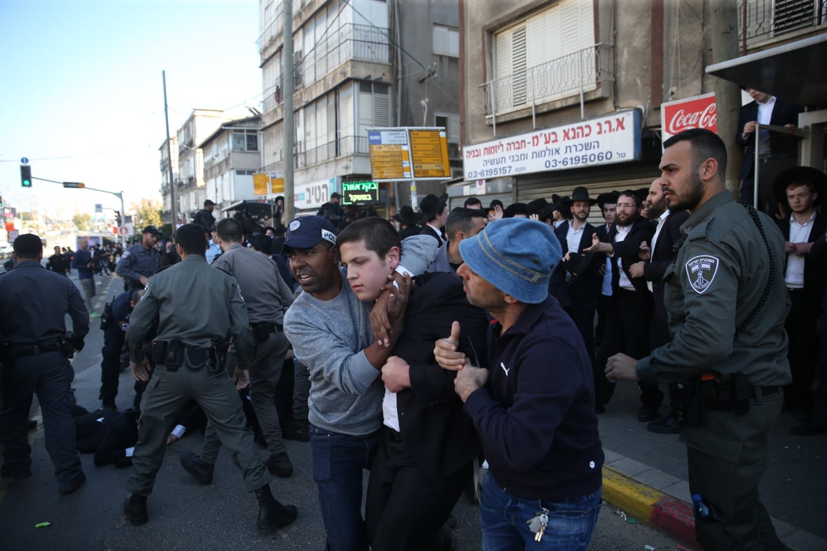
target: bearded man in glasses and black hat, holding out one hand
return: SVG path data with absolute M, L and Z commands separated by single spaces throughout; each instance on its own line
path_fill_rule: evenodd
M 603 376 L 609 356 L 623 352 L 633 358 L 643 358 L 649 353 L 649 322 L 652 317 L 652 292 L 641 278 L 632 278 L 629 268 L 638 262 L 638 251 L 643 243 L 649 243 L 655 234 L 651 221 L 641 218 L 640 198 L 628 189 L 620 194 L 617 202 L 617 224 L 609 231 L 607 243 L 592 235 L 592 246 L 585 252 L 603 253 L 612 261 L 612 298 L 600 349 L 595 358 L 595 411 L 602 413 L 614 394 L 614 382 Z M 663 393 L 657 385 L 641 386 L 643 402 L 638 420 L 657 419 Z

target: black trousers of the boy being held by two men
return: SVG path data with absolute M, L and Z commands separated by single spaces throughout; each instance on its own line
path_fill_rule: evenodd
M 472 476 L 471 463 L 449 477 L 423 473 L 402 436 L 382 428 L 370 468 L 365 525 L 373 551 L 450 549 L 440 530 Z M 426 476 L 426 474 L 428 476 Z

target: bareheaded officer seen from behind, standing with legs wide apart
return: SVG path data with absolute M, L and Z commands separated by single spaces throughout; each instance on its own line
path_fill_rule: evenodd
M 164 461 L 170 419 L 190 398 L 198 402 L 213 424 L 233 463 L 244 473 L 244 486 L 256 492 L 256 525 L 271 530 L 295 520 L 294 506 L 283 506 L 270 493 L 270 473 L 258 455 L 253 435 L 245 426 L 236 387 L 222 369 L 227 336 L 232 335 L 239 359 L 249 363 L 253 353 L 250 323 L 235 278 L 211 268 L 204 259 L 207 240 L 200 226 L 184 224 L 175 232 L 181 262 L 153 276 L 135 306 L 127 330 L 132 374 L 151 381 L 141 400 L 138 443 L 127 481 L 130 495 L 124 512 L 132 525 L 148 520 L 146 496 Z M 144 352 L 144 336 L 160 316 L 158 336 L 148 347 L 153 370 Z

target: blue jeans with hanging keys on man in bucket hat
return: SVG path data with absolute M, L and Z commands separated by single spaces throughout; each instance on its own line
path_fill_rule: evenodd
M 566 549 L 586 551 L 603 500 L 601 490 L 566 501 L 528 500 L 509 496 L 489 472 L 480 494 L 483 551 Z M 543 539 L 534 541 L 528 520 L 547 510 Z

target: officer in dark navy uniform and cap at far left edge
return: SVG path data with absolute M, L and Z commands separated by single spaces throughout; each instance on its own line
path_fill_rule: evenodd
M 31 477 L 27 439 L 33 392 L 43 411 L 46 451 L 55 465 L 61 494 L 86 481 L 75 449 L 69 385 L 74 378 L 67 352 L 84 348 L 89 314 L 69 278 L 41 266 L 43 243 L 37 235 L 14 240 L 15 267 L 0 276 L 2 335 L 2 477 Z M 65 342 L 65 316 L 74 338 Z

